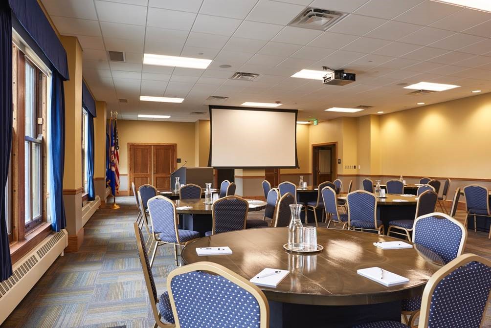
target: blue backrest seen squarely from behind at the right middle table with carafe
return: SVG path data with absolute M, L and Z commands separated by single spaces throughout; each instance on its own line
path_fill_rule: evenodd
M 346 196 L 348 204 L 348 225 L 353 220 L 377 224 L 377 198 L 372 192 L 356 190 Z

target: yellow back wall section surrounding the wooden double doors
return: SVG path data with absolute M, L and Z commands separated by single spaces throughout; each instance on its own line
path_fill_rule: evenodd
M 119 172 L 128 174 L 128 143 L 176 143 L 181 164 L 194 158 L 194 123 L 118 120 Z

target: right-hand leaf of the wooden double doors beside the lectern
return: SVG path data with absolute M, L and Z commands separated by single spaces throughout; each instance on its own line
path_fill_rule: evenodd
M 153 148 L 153 185 L 157 190 L 170 189 L 170 173 L 176 169 L 176 146 L 154 145 Z

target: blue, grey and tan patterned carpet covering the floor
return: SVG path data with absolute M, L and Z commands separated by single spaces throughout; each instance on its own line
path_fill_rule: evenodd
M 119 210 L 96 212 L 84 227 L 80 251 L 59 257 L 1 327 L 153 326 L 133 232 L 134 198 L 118 197 L 117 202 Z M 255 218 L 262 218 L 262 212 L 249 214 Z M 462 213 L 458 218 L 463 220 Z M 469 231 L 465 252 L 491 259 L 487 234 Z M 153 269 L 159 293 L 174 268 L 172 247 L 160 247 Z M 491 328 L 491 306 L 486 318 L 483 327 Z

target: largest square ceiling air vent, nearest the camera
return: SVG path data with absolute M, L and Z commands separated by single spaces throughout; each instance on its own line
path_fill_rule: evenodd
M 297 17 L 290 22 L 290 26 L 313 28 L 326 30 L 343 18 L 348 16 L 347 13 L 308 7 L 303 10 Z

